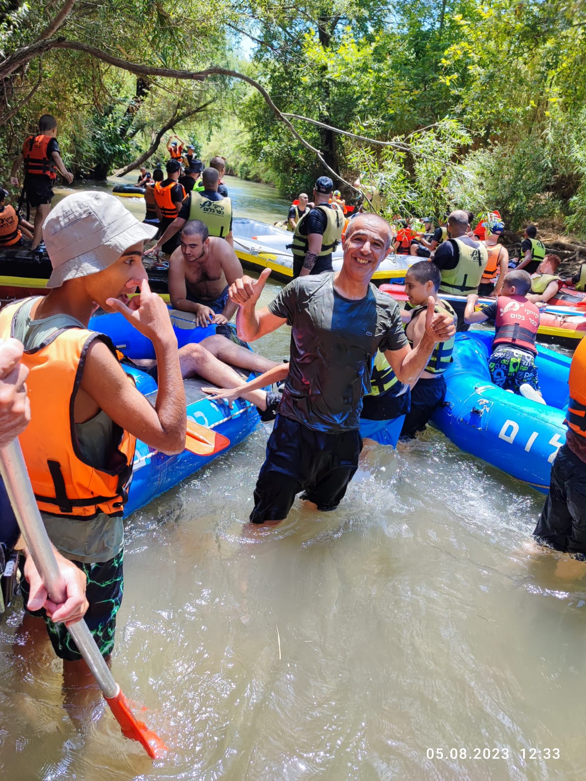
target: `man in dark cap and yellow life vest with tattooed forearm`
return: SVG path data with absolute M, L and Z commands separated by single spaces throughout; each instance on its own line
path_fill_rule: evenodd
M 344 214 L 332 205 L 334 182 L 319 177 L 313 187 L 314 206 L 299 219 L 293 241 L 288 246 L 293 253 L 293 279 L 306 274 L 333 271 L 332 252 L 338 247 L 344 230 Z

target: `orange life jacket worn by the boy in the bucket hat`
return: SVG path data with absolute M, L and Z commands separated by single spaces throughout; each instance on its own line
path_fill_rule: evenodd
M 18 301 L 0 312 L 0 338 L 11 335 L 13 318 L 23 303 Z M 77 448 L 73 401 L 88 348 L 96 340 L 104 341 L 116 355 L 107 337 L 75 327 L 58 331 L 41 348 L 23 355 L 23 364 L 30 370 L 31 420 L 19 438 L 38 507 L 80 521 L 100 512 L 122 515 L 136 444 L 135 437 L 120 429 L 107 471 L 84 462 Z

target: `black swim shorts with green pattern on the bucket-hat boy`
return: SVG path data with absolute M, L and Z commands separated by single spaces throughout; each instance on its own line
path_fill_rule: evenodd
M 88 577 L 88 585 L 85 596 L 90 604 L 84 620 L 88 624 L 91 634 L 94 636 L 102 656 L 111 654 L 114 647 L 114 633 L 116 631 L 116 614 L 120 610 L 123 594 L 123 551 L 111 558 L 108 562 L 97 564 L 83 564 L 72 562 L 85 572 Z M 26 607 L 30 587 L 26 580 L 21 582 L 24 605 Z M 45 610 L 32 612 L 45 619 L 49 640 L 55 654 L 68 662 L 77 662 L 81 654 L 73 637 L 67 631 L 64 624 L 54 624 L 46 615 Z

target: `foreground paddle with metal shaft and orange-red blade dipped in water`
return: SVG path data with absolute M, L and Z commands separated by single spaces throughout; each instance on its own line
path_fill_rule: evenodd
M 10 504 L 13 505 L 16 520 L 34 565 L 38 569 L 52 601 L 62 602 L 63 582 L 45 530 L 45 524 L 38 511 L 18 439 L 13 440 L 5 448 L 0 448 L 0 473 L 2 473 L 2 480 L 4 480 Z M 156 733 L 148 729 L 144 722 L 139 722 L 134 718 L 132 711 L 130 711 L 130 705 L 109 671 L 86 622 L 82 620 L 72 624 L 68 627 L 68 631 L 75 640 L 80 654 L 98 682 L 100 689 L 102 689 L 105 701 L 120 724 L 123 735 L 132 740 L 138 740 L 145 747 L 150 758 L 160 759 L 166 751 L 166 745 Z

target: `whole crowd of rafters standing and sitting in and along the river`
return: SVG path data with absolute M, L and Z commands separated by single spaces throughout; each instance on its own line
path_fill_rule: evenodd
M 498 244 L 502 220 L 495 212 L 482 221 L 482 237 L 470 230 L 470 216 L 461 210 L 436 229 L 423 220 L 420 234 L 409 238 L 409 255 L 420 259 L 406 273 L 409 304 L 401 310 L 370 280 L 403 237 L 373 211 L 345 223 L 345 204 L 337 202 L 332 180 L 319 177 L 312 204 L 300 195 L 299 206 L 307 204 L 289 212 L 294 279 L 260 306 L 270 270 L 258 279 L 245 276 L 234 254 L 231 201 L 220 194 L 222 158 L 207 168 L 191 160 L 181 180 L 182 144 L 170 141 L 166 177 L 155 169 L 149 179 L 141 170 L 154 199 L 146 198 L 154 208 L 144 223 L 113 195 L 98 191 L 71 194 L 49 212 L 49 172 L 61 170 L 51 143 L 56 123 L 41 117 L 39 130 L 24 145 L 25 189 L 44 215 L 52 274 L 48 294 L 0 312 L 0 446 L 20 435 L 38 506 L 58 551 L 66 601 L 51 601 L 28 558 L 23 594 L 27 609 L 45 619 L 64 669 L 80 664 L 66 625 L 81 615 L 102 654 L 113 649 L 123 590 L 122 515 L 135 442 L 139 437 L 169 455 L 184 449 L 185 377 L 196 374 L 213 384 L 207 389 L 211 398 L 230 403 L 241 396 L 263 419 L 275 419 L 253 494 L 250 521 L 259 525 L 285 519 L 298 494 L 320 512 L 334 510 L 358 468 L 363 437 L 395 445 L 423 430 L 445 395 L 456 330 L 470 323 L 495 321 L 493 381 L 513 392 L 524 388 L 540 401 L 534 365 L 539 308 L 532 298 L 548 290 L 552 266 L 544 263 L 552 261 L 534 226 L 525 231 L 523 268 L 508 271 L 506 250 Z M 50 182 L 35 184 L 34 177 Z M 153 214 L 159 226 L 152 224 Z M 36 231 L 37 215 L 35 236 Z M 177 348 L 169 310 L 148 286 L 143 255 L 156 234 L 150 252 L 170 249 L 173 307 L 191 313 L 198 325 L 218 326 L 216 335 L 198 344 Z M 343 262 L 334 273 L 331 254 L 338 241 Z M 541 294 L 531 294 L 532 264 L 546 277 Z M 482 289 L 483 284 L 492 287 Z M 477 309 L 479 291 L 494 300 Z M 441 294 L 462 298 L 450 303 Z M 124 371 L 129 359 L 88 329 L 97 308 L 120 312 L 152 341 L 155 361 L 142 368 L 158 383 L 154 406 L 129 382 Z M 291 326 L 289 361 L 271 362 L 224 337 L 222 328 L 234 314 L 238 337 L 247 342 Z M 259 376 L 242 383 L 238 368 Z M 585 375 L 582 343 L 570 371 L 568 437 L 534 532 L 541 543 L 583 561 Z M 272 383 L 282 383 L 280 393 L 265 390 Z M 0 494 L 0 501 L 6 558 L 18 529 L 6 496 Z

